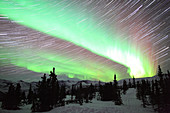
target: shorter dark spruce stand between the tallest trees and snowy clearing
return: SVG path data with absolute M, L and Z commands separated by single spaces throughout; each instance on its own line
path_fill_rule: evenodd
M 123 88 L 123 90 L 127 90 L 128 86 Z M 99 81 L 98 86 L 90 85 L 90 86 L 82 86 L 82 83 L 77 85 L 72 85 L 70 95 L 71 100 L 66 103 L 79 103 L 80 105 L 85 103 L 89 103 L 93 98 L 97 95 L 97 100 L 101 101 L 114 101 L 115 105 L 121 105 L 121 91 L 122 87 L 118 86 L 118 82 L 116 80 L 116 75 L 114 75 L 114 81 L 110 83 L 101 84 Z M 75 98 L 73 98 L 75 97 Z

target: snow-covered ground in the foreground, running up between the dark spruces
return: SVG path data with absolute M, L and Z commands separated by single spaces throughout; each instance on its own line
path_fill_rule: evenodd
M 155 113 L 151 107 L 143 108 L 142 102 L 136 99 L 136 90 L 130 88 L 126 95 L 122 95 L 124 105 L 115 105 L 112 101 L 97 101 L 93 99 L 92 103 L 68 104 L 63 107 L 57 107 L 49 112 L 43 113 Z M 0 113 L 31 113 L 31 105 L 21 107 L 21 110 L 2 110 Z

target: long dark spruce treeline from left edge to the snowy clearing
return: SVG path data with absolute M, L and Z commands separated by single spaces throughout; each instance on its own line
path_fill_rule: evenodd
M 123 104 L 121 99 L 121 92 L 124 94 L 126 90 L 132 87 L 131 82 L 126 84 L 124 81 L 123 86 L 118 86 L 116 75 L 114 75 L 114 81 L 110 83 L 101 84 L 99 81 L 98 86 L 94 86 L 92 83 L 88 86 L 79 84 L 73 84 L 70 89 L 66 90 L 64 84 L 60 84 L 55 74 L 55 68 L 50 71 L 50 75 L 44 74 L 33 89 L 30 85 L 27 96 L 24 91 L 21 91 L 21 86 L 18 83 L 16 87 L 11 84 L 8 92 L 4 95 L 2 101 L 2 108 L 9 110 L 20 109 L 20 106 L 26 104 L 32 104 L 32 112 L 49 111 L 54 107 L 64 106 L 69 103 L 77 103 L 83 105 L 83 103 L 91 103 L 93 98 L 96 97 L 101 101 L 113 101 L 115 105 Z M 66 95 L 71 98 L 65 100 Z

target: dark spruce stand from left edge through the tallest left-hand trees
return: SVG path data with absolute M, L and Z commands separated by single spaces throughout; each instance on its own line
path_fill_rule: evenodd
M 30 85 L 28 95 L 21 91 L 18 83 L 15 87 L 10 84 L 8 92 L 4 95 L 2 109 L 17 110 L 19 106 L 32 104 L 32 112 L 49 111 L 56 106 L 63 106 L 66 97 L 65 85 L 59 86 L 55 68 L 50 72 L 49 78 L 44 74 L 42 80 L 38 82 L 37 88 L 32 89 Z

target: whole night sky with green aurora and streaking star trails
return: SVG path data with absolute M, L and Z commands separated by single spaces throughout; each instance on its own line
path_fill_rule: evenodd
M 168 3 L 2 0 L 0 76 L 34 79 L 52 67 L 89 80 L 154 76 L 170 66 Z

